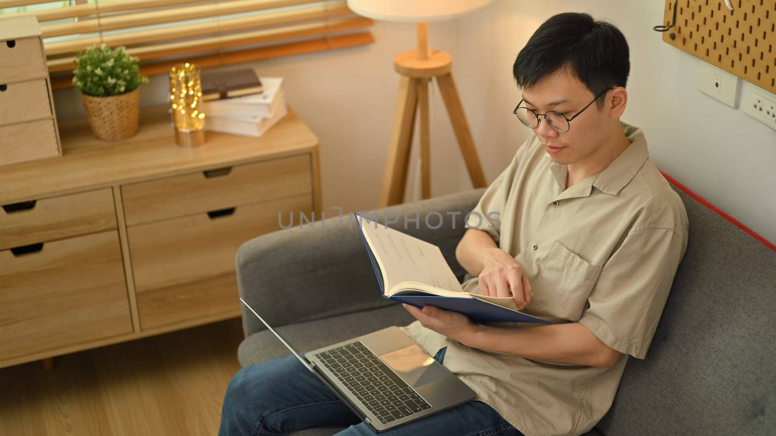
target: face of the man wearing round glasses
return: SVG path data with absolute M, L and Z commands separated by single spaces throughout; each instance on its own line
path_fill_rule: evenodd
M 523 92 L 523 103 L 537 113 L 556 111 L 567 119 L 591 102 L 594 94 L 565 68 L 543 78 L 530 91 Z M 594 158 L 594 155 L 611 134 L 612 119 L 608 111 L 593 103 L 569 123 L 566 133 L 558 133 L 543 116 L 534 129 L 545 146 L 545 151 L 559 164 L 576 164 Z

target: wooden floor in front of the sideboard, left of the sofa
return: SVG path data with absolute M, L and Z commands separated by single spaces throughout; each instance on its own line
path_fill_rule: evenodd
M 242 337 L 234 319 L 0 369 L 0 434 L 214 436 Z

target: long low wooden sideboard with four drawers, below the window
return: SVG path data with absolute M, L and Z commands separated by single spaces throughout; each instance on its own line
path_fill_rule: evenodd
M 320 216 L 317 137 L 292 111 L 207 135 L 176 146 L 164 107 L 120 143 L 78 119 L 62 157 L 0 167 L 0 367 L 239 316 L 237 248 Z

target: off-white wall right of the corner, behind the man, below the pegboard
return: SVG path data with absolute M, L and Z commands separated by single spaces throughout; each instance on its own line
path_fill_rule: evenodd
M 549 16 L 588 12 L 628 39 L 631 74 L 622 120 L 643 129 L 658 167 L 776 242 L 776 130 L 698 91 L 701 60 L 663 43 L 652 26 L 663 2 L 496 0 L 459 21 L 459 82 L 488 181 L 530 131 L 511 114 L 520 100 L 512 64 Z M 743 82 L 743 88 L 752 85 Z

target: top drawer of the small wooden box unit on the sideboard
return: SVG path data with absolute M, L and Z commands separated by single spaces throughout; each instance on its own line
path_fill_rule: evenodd
M 0 85 L 48 75 L 40 38 L 0 41 Z

